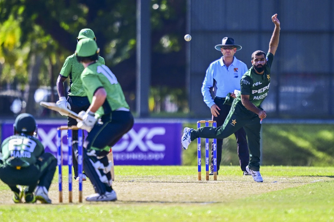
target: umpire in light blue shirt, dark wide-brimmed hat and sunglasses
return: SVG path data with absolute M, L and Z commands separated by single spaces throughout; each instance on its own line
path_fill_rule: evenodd
M 236 59 L 234 54 L 241 49 L 241 46 L 234 43 L 233 38 L 225 37 L 221 45 L 215 49 L 221 51 L 223 56 L 212 62 L 206 70 L 202 86 L 204 102 L 211 109 L 212 120 L 217 122 L 217 127 L 223 125 L 230 109 L 231 102 L 236 95 L 234 90 L 240 91 L 240 80 L 247 71 L 247 66 Z M 210 89 L 213 89 L 214 99 L 211 97 Z M 238 156 L 243 175 L 250 175 L 246 171 L 249 162 L 249 151 L 246 140 L 246 133 L 240 128 L 234 133 L 238 146 Z M 217 173 L 219 170 L 222 155 L 223 139 L 217 139 Z M 213 145 L 211 148 L 211 173 L 213 175 Z

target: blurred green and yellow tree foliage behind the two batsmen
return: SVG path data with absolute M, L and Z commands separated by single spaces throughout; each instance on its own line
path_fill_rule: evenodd
M 136 3 L 136 0 L 0 0 L 0 83 L 19 84 L 21 90 L 30 94 L 41 85 L 53 88 L 65 58 L 75 50 L 79 30 L 91 28 L 106 64 L 123 74 L 119 81 L 133 95 Z M 175 87 L 170 75 L 184 76 L 185 0 L 150 0 L 150 3 L 152 83 Z M 30 82 L 33 79 L 37 80 Z

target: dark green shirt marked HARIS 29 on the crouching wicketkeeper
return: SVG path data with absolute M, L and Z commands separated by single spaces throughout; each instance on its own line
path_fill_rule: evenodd
M 44 153 L 44 147 L 35 137 L 14 135 L 5 139 L 0 148 L 2 161 L 8 165 L 28 167 Z

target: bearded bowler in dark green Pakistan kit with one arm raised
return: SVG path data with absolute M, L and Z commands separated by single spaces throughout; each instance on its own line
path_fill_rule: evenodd
M 277 14 L 272 16 L 275 29 L 269 43 L 269 51 L 255 51 L 252 54 L 252 65 L 241 78 L 240 93 L 234 99 L 231 110 L 221 127 L 201 127 L 198 129 L 184 128 L 182 145 L 187 149 L 190 142 L 196 138 L 223 139 L 241 127 L 244 128 L 249 152 L 252 154 L 246 171 L 253 176 L 256 182 L 263 182 L 260 174 L 260 130 L 262 119 L 266 118 L 266 111 L 261 108 L 261 103 L 269 92 L 271 79 L 271 65 L 278 47 L 280 37 L 280 21 Z

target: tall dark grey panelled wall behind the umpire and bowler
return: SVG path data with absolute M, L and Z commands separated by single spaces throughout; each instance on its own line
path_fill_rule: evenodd
M 190 115 L 209 117 L 200 91 L 214 49 L 225 36 L 242 49 L 235 56 L 251 67 L 251 54 L 268 52 L 278 14 L 281 35 L 272 84 L 262 107 L 270 117 L 333 117 L 334 3 L 332 0 L 188 0 Z

